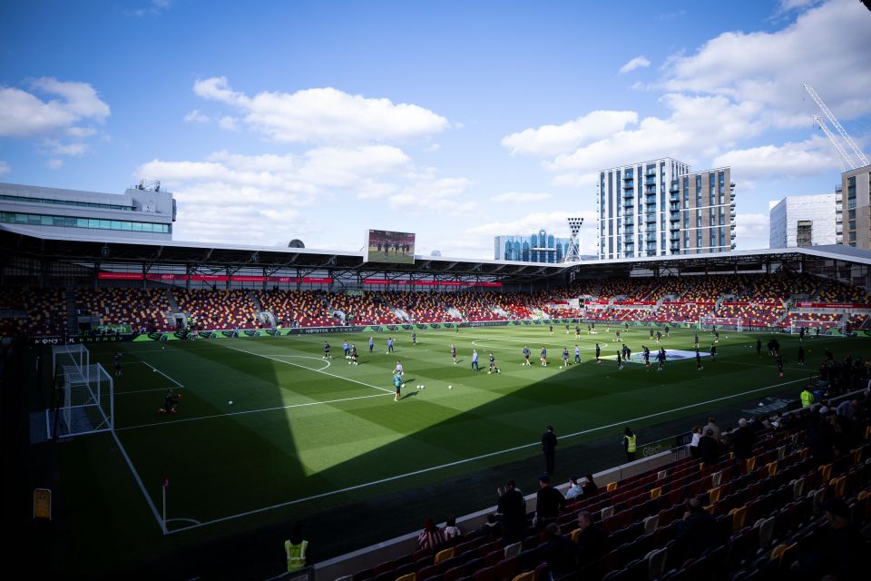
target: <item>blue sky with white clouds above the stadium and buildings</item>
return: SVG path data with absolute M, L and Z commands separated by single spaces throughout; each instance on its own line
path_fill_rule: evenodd
M 594 251 L 594 172 L 670 156 L 731 165 L 764 248 L 769 201 L 840 182 L 802 83 L 869 150 L 868 30 L 856 0 L 12 0 L 0 180 L 159 179 L 178 240 L 491 258 L 569 215 Z

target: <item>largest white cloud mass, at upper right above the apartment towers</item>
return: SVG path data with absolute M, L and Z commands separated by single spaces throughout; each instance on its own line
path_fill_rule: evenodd
M 602 168 L 663 155 L 694 165 L 731 164 L 741 182 L 831 171 L 837 158 L 818 135 L 800 143 L 758 139 L 807 130 L 817 106 L 802 83 L 816 85 L 845 120 L 871 113 L 871 74 L 857 74 L 871 54 L 866 9 L 853 0 L 807 6 L 779 30 L 719 34 L 693 53 L 672 55 L 659 83 L 640 86 L 664 90 L 664 115 L 597 111 L 512 133 L 502 143 L 512 153 L 549 158 L 543 167 L 553 172 L 551 183 L 566 187 L 591 185 Z M 592 123 L 592 115 L 601 123 Z M 601 131 L 585 133 L 584 123 Z M 750 140 L 752 147 L 743 145 Z

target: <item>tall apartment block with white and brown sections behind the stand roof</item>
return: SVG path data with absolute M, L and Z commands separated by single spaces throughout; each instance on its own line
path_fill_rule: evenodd
M 600 260 L 735 248 L 729 167 L 691 172 L 665 157 L 602 170 L 596 188 Z

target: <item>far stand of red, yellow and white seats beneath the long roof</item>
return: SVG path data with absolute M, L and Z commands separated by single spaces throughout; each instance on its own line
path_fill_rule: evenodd
M 569 300 L 594 301 L 579 310 Z M 5 335 L 63 332 L 70 311 L 64 291 L 5 288 L 0 294 Z M 868 324 L 871 299 L 839 281 L 808 274 L 792 277 L 733 274 L 697 277 L 612 277 L 579 281 L 551 291 L 185 290 L 99 288 L 74 291 L 74 310 L 101 325 L 134 330 L 175 328 L 171 301 L 196 330 L 335 327 L 345 324 L 478 322 L 572 318 L 584 321 L 690 323 L 714 316 L 741 320 L 745 328 L 788 330 L 794 320 L 838 322 L 851 330 Z M 798 301 L 803 300 L 801 305 Z M 812 305 L 812 306 L 808 306 Z M 270 313 L 271 319 L 260 317 Z M 833 325 L 834 326 L 834 325 Z

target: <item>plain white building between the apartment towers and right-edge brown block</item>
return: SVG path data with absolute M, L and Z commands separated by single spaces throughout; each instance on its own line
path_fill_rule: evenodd
M 844 240 L 840 192 L 787 196 L 768 216 L 768 248 L 806 248 Z

